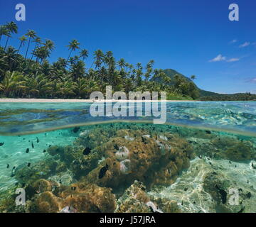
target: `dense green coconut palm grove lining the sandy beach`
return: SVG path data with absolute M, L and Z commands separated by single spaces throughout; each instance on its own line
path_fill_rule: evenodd
M 105 93 L 105 87 L 112 85 L 113 92 L 165 91 L 168 99 L 198 98 L 193 82 L 178 74 L 170 79 L 164 70 L 153 69 L 154 60 L 145 67 L 141 63 L 131 65 L 123 58 L 115 60 L 111 51 L 96 50 L 92 53 L 92 65 L 87 67 L 89 52 L 80 47 L 78 40 L 71 40 L 68 57 L 50 63 L 55 48 L 52 40 L 41 40 L 35 31 L 29 30 L 14 48 L 8 45 L 14 33 L 18 33 L 16 23 L 0 26 L 0 42 L 6 38 L 3 45 L 0 43 L 0 96 L 88 99 L 91 92 Z M 24 56 L 20 54 L 22 49 Z

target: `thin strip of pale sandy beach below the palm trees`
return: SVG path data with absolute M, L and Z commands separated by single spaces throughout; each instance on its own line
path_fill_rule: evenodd
M 79 102 L 84 102 L 84 103 L 92 103 L 92 102 L 117 102 L 118 100 L 93 100 L 93 99 L 0 99 L 0 103 L 4 103 L 4 102 L 13 102 L 13 103 L 23 103 L 23 102 L 33 102 L 33 103 L 61 103 L 61 102 L 75 102 L 75 103 L 79 103 Z M 127 102 L 155 102 L 155 100 L 138 100 L 138 101 L 134 101 L 134 100 L 126 100 Z M 198 100 L 157 100 L 157 101 L 166 101 L 166 102 L 178 102 L 178 101 L 198 101 Z

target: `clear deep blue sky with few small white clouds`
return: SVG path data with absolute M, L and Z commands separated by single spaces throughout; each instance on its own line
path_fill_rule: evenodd
M 50 62 L 68 57 L 75 38 L 90 52 L 88 67 L 94 50 L 112 50 L 117 60 L 153 59 L 157 68 L 195 74 L 202 89 L 256 94 L 255 0 L 0 0 L 0 24 L 15 21 L 18 3 L 26 6 L 26 21 L 16 21 L 14 38 L 33 29 L 53 40 Z M 232 3 L 240 21 L 228 19 Z M 18 47 L 14 38 L 10 44 Z

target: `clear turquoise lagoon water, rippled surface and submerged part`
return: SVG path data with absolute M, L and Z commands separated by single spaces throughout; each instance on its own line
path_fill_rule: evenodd
M 0 104 L 1 212 L 94 212 L 55 189 L 80 184 L 111 189 L 112 200 L 96 211 L 105 202 L 113 212 L 156 211 L 146 201 L 163 212 L 256 211 L 255 101 L 169 102 L 164 125 L 152 117 L 92 117 L 90 105 Z M 135 158 L 138 150 L 143 155 Z M 41 179 L 55 186 L 38 190 Z M 134 181 L 146 199 L 130 195 Z M 34 190 L 26 206 L 16 206 L 16 188 Z M 55 210 L 46 192 L 58 200 Z

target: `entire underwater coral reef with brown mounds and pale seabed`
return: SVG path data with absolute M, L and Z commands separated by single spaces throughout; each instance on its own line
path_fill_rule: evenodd
M 255 180 L 245 179 L 255 175 L 255 144 L 176 126 L 86 126 L 72 145 L 50 145 L 43 160 L 16 167 L 18 182 L 0 194 L 0 211 L 255 211 Z M 18 187 L 26 191 L 26 206 L 15 206 Z M 236 206 L 229 204 L 230 188 L 239 189 Z

